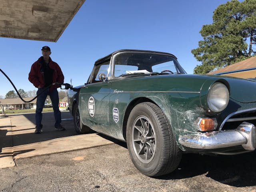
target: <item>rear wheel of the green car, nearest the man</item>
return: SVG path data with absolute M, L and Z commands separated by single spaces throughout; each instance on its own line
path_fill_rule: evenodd
M 79 134 L 86 134 L 90 132 L 91 129 L 88 126 L 85 126 L 81 121 L 77 103 L 74 104 L 73 120 L 76 132 L 78 132 Z

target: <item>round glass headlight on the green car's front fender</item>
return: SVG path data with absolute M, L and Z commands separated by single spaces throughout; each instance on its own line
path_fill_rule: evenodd
M 210 110 L 214 112 L 223 111 L 228 105 L 229 92 L 228 88 L 220 82 L 214 83 L 207 96 L 207 104 Z

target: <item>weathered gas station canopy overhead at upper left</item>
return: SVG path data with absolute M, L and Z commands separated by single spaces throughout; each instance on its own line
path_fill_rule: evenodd
M 0 37 L 56 42 L 85 0 L 0 0 Z

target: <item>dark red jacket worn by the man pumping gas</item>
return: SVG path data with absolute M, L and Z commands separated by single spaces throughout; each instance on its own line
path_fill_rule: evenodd
M 34 62 L 31 66 L 31 70 L 28 74 L 28 80 L 36 87 L 38 86 L 44 87 L 44 76 L 42 75 L 41 72 L 41 66 L 42 64 L 40 63 L 40 60 L 44 59 L 43 57 L 40 57 L 36 62 Z M 48 66 L 53 69 L 53 74 L 52 74 L 52 82 L 58 82 L 62 84 L 64 82 L 64 75 L 60 69 L 60 66 L 52 61 L 50 58 L 50 62 Z M 55 84 L 50 87 L 50 92 L 54 90 L 55 88 L 60 87 L 60 84 Z

